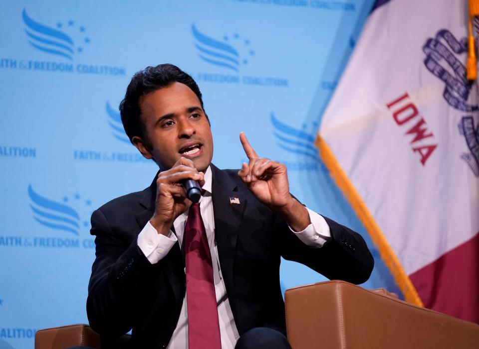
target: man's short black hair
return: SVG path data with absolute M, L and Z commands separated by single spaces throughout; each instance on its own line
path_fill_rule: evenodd
M 200 88 L 190 75 L 173 64 L 146 67 L 133 75 L 126 89 L 125 98 L 120 103 L 121 122 L 123 122 L 123 128 L 130 141 L 132 141 L 133 136 L 139 136 L 145 141 L 147 147 L 151 147 L 143 122 L 140 119 L 140 98 L 175 82 L 188 86 L 200 100 L 201 108 L 205 110 Z M 209 119 L 208 122 L 210 122 Z

